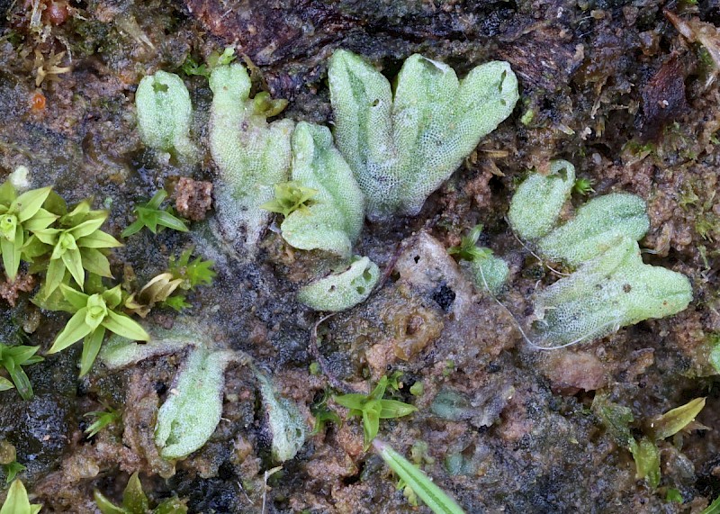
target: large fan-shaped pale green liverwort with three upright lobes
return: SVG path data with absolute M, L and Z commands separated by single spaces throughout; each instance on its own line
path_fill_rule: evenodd
M 518 101 L 518 79 L 500 61 L 458 80 L 453 68 L 416 54 L 393 87 L 365 59 L 337 50 L 328 77 L 335 140 L 373 221 L 417 214 Z

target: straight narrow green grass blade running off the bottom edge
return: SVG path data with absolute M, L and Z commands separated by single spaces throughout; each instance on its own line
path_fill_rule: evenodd
M 383 457 L 385 464 L 388 464 L 392 471 L 400 477 L 404 486 L 410 487 L 435 514 L 464 514 L 464 510 L 460 505 L 450 498 L 445 491 L 437 487 L 418 466 L 410 463 L 408 459 L 386 443 L 375 439 L 373 446 L 377 453 Z

